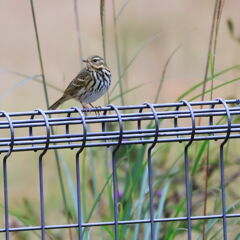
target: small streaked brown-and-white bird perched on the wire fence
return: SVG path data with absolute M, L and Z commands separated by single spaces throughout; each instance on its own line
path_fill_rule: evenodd
M 102 57 L 97 55 L 83 60 L 86 66 L 69 83 L 62 97 L 48 109 L 55 110 L 69 99 L 76 99 L 83 108 L 103 96 L 111 85 L 111 71 Z

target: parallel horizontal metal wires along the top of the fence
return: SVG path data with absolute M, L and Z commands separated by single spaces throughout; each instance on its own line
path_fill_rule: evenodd
M 226 101 L 226 104 L 231 104 L 231 106 L 228 106 L 231 117 L 238 116 L 240 114 L 240 106 L 238 103 L 238 100 Z M 195 127 L 194 141 L 224 139 L 226 133 L 229 131 L 229 138 L 240 137 L 240 123 L 231 124 L 231 129 L 228 129 L 227 124 L 211 123 L 214 117 L 226 116 L 226 109 L 218 100 L 192 102 L 189 103 L 189 105 L 192 108 L 204 106 L 203 109 L 192 109 L 194 118 L 209 119 L 209 121 L 205 122 L 204 125 Z M 190 110 L 181 110 L 180 108 L 184 107 L 184 103 L 152 104 L 152 106 L 156 111 L 157 119 L 159 121 L 167 121 L 167 123 L 169 123 L 168 126 L 161 126 L 157 130 L 154 126 L 150 129 L 142 127 L 141 125 L 143 124 L 141 123 L 144 121 L 154 120 L 153 112 L 145 104 L 116 107 L 119 111 L 119 117 L 121 118 L 123 126 L 121 145 L 152 143 L 156 134 L 156 141 L 158 143 L 190 141 L 193 130 L 192 125 L 181 126 L 177 124 L 178 120 L 191 121 L 192 116 Z M 176 110 L 172 110 L 173 108 L 176 108 Z M 0 152 L 8 152 L 11 142 L 13 142 L 13 152 L 43 150 L 46 143 L 48 144 L 48 149 L 79 148 L 82 146 L 83 140 L 85 141 L 85 147 L 114 146 L 118 144 L 119 129 L 110 131 L 105 128 L 106 124 L 116 124 L 119 121 L 117 114 L 112 111 L 111 107 L 92 109 L 91 111 L 96 113 L 96 116 L 87 115 L 84 120 L 79 114 L 79 116 L 76 116 L 76 109 L 77 108 L 44 111 L 46 119 L 42 117 L 43 115 L 38 110 L 32 112 L 8 113 L 9 119 L 7 119 L 3 113 L 0 113 L 0 130 L 9 129 L 9 124 L 12 124 L 13 131 L 24 129 L 24 131 L 21 132 L 21 136 L 15 136 L 14 138 L 12 138 L 12 136 L 0 138 Z M 128 110 L 135 112 L 126 113 Z M 143 110 L 145 111 L 143 112 Z M 73 114 L 75 114 L 75 116 L 72 116 Z M 51 115 L 54 116 L 51 118 Z M 20 117 L 24 119 L 18 119 Z M 36 117 L 41 118 L 36 119 Z M 82 130 L 84 125 L 83 121 L 87 126 L 86 138 Z M 127 125 L 125 123 L 127 122 L 135 122 L 135 128 L 124 129 L 124 126 Z M 73 125 L 80 126 L 80 128 L 78 128 L 78 133 L 71 133 L 69 130 Z M 34 134 L 35 128 L 52 128 L 57 126 L 65 127 L 65 131 L 61 134 Z M 95 129 L 96 131 L 94 131 Z

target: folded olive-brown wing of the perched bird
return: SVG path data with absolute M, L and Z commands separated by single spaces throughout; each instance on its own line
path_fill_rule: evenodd
M 68 87 L 64 91 L 64 95 L 74 97 L 81 88 L 88 85 L 91 80 L 91 74 L 87 68 L 84 68 L 80 73 L 69 83 Z

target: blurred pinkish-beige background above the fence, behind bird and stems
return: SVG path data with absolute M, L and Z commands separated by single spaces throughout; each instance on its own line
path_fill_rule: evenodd
M 116 1 L 116 12 L 124 5 L 124 0 Z M 1 1 L 0 27 L 0 68 L 1 95 L 23 80 L 23 77 L 6 71 L 28 76 L 40 74 L 35 33 L 29 1 Z M 238 23 L 239 1 L 226 1 L 222 13 L 217 43 L 215 72 L 239 63 L 239 44 L 233 40 L 227 27 L 227 19 L 235 24 L 236 35 L 240 35 Z M 161 102 L 173 102 L 189 87 L 204 78 L 207 59 L 214 1 L 172 0 L 130 0 L 118 17 L 121 69 L 127 66 L 144 45 L 124 81 L 124 89 L 142 85 L 125 95 L 129 104 L 153 101 L 163 67 L 173 50 L 180 46 L 172 58 L 166 73 L 166 79 L 160 96 Z M 78 38 L 74 15 L 74 1 L 52 0 L 35 1 L 36 18 L 40 44 L 48 83 L 64 89 L 80 71 Z M 99 1 L 78 1 L 81 56 L 103 55 Z M 106 1 L 106 53 L 107 63 L 113 72 L 113 85 L 118 80 L 116 51 L 113 31 L 112 1 Z M 154 38 L 155 37 L 155 38 Z M 154 38 L 154 40 L 153 40 Z M 150 43 L 149 43 L 150 41 Z M 239 73 L 216 79 L 216 83 L 230 80 Z M 48 88 L 50 102 L 61 93 Z M 239 83 L 214 92 L 214 97 L 237 96 Z M 111 97 L 117 96 L 117 87 Z M 7 111 L 45 108 L 42 85 L 28 81 L 1 98 L 2 109 Z M 120 99 L 113 103 L 120 104 Z M 69 101 L 64 107 L 77 104 Z M 103 99 L 97 105 L 103 104 Z

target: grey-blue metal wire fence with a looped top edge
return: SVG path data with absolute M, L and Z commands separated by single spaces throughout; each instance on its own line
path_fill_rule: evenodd
M 4 213 L 5 227 L 0 229 L 6 239 L 9 232 L 41 230 L 41 239 L 45 239 L 48 229 L 77 228 L 78 239 L 82 239 L 82 229 L 94 226 L 114 226 L 115 239 L 119 239 L 119 226 L 123 224 L 151 225 L 151 239 L 157 239 L 154 227 L 158 222 L 186 221 L 188 239 L 192 239 L 191 222 L 194 220 L 222 219 L 223 239 L 227 239 L 227 218 L 239 218 L 238 214 L 227 214 L 225 198 L 224 174 L 224 145 L 229 139 L 240 138 L 240 123 L 233 123 L 234 117 L 240 115 L 239 100 L 216 99 L 214 101 L 187 102 L 166 104 L 150 104 L 134 106 L 109 105 L 103 108 L 90 109 L 94 114 L 86 114 L 85 110 L 73 107 L 68 110 L 43 111 L 36 109 L 32 112 L 0 112 L 0 131 L 9 131 L 8 137 L 0 138 L 0 152 L 3 156 L 4 181 Z M 225 118 L 224 123 L 215 121 Z M 146 122 L 151 124 L 146 126 Z M 162 123 L 166 124 L 162 124 Z M 127 123 L 131 123 L 130 125 Z M 184 124 L 183 124 L 184 123 Z M 110 130 L 108 124 L 115 128 Z M 71 126 L 77 126 L 78 132 L 72 133 Z M 54 127 L 62 128 L 62 133 L 56 133 Z M 126 128 L 125 126 L 128 126 Z M 131 126 L 131 129 L 129 129 Z M 151 126 L 151 127 L 149 127 Z M 44 128 L 45 134 L 36 134 L 37 128 Z M 16 135 L 22 129 L 21 135 Z M 189 187 L 189 147 L 193 141 L 219 140 L 219 160 L 221 176 L 222 213 L 218 215 L 192 216 Z M 184 143 L 185 159 L 185 217 L 154 218 L 153 181 L 152 181 L 152 151 L 158 143 Z M 118 213 L 118 182 L 116 168 L 116 153 L 120 146 L 131 144 L 146 144 L 148 146 L 148 187 L 149 187 L 149 219 L 119 221 Z M 112 153 L 113 201 L 114 220 L 112 222 L 82 221 L 81 212 L 81 183 L 79 158 L 85 148 L 109 147 Z M 43 157 L 51 149 L 77 149 L 76 152 L 76 182 L 77 182 L 77 223 L 65 225 L 46 225 L 44 208 Z M 13 152 L 37 151 L 39 154 L 39 189 L 41 207 L 41 225 L 26 227 L 9 226 L 8 207 L 8 178 L 7 162 Z

